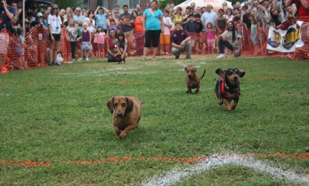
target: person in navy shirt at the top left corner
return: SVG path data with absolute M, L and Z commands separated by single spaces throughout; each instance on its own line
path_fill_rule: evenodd
M 15 16 L 15 9 L 13 7 L 7 7 L 7 4 L 5 0 L 2 0 L 0 2 L 0 20 L 2 22 L 0 23 L 0 31 L 4 28 L 6 30 L 9 30 L 10 28 L 10 21 Z

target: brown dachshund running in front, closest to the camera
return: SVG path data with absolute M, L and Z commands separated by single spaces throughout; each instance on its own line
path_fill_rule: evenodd
M 111 113 L 114 113 L 113 125 L 120 139 L 123 139 L 130 130 L 138 127 L 138 122 L 142 115 L 143 103 L 145 102 L 140 102 L 136 97 L 132 96 L 113 97 L 106 103 Z

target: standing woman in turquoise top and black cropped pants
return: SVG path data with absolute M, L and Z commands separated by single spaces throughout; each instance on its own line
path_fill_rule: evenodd
M 145 33 L 145 45 L 142 60 L 146 60 L 146 55 L 150 49 L 151 41 L 153 47 L 152 60 L 156 60 L 160 34 L 164 33 L 163 13 L 161 10 L 158 10 L 157 7 L 158 2 L 153 0 L 151 2 L 151 8 L 145 10 L 143 14 L 142 24 L 143 32 Z

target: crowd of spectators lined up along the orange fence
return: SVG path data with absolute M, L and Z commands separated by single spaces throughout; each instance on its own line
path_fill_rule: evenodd
M 182 51 L 186 51 L 187 58 L 190 58 L 191 51 L 188 51 L 188 48 L 191 50 L 193 45 L 194 51 L 199 54 L 205 54 L 205 50 L 212 53 L 213 47 L 218 45 L 220 52 L 218 57 L 225 57 L 223 49 L 220 49 L 225 45 L 235 52 L 235 56 L 239 56 L 242 42 L 241 32 L 237 31 L 239 27 L 251 30 L 252 43 L 255 48 L 258 48 L 261 30 L 265 30 L 267 26 L 276 26 L 280 29 L 282 23 L 288 19 L 309 17 L 309 0 L 252 0 L 244 1 L 243 5 L 240 2 L 232 3 L 232 7 L 228 7 L 227 3 L 223 2 L 222 9 L 219 9 L 218 13 L 213 11 L 210 4 L 196 7 L 194 2 L 184 10 L 182 7 L 175 7 L 175 2 L 167 3 L 162 12 L 158 8 L 158 2 L 153 0 L 149 9 L 143 10 L 138 3 L 136 10 L 131 13 L 129 7 L 124 5 L 122 14 L 117 4 L 113 10 L 102 6 L 98 6 L 95 11 L 87 11 L 86 8 L 81 7 L 59 9 L 56 4 L 43 10 L 37 8 L 36 1 L 30 0 L 26 1 L 24 20 L 22 20 L 23 10 L 18 10 L 17 2 L 9 1 L 9 5 L 6 4 L 6 0 L 1 2 L 0 30 L 5 28 L 16 35 L 22 45 L 25 44 L 23 34 L 27 34 L 33 27 L 48 31 L 49 65 L 51 66 L 60 65 L 56 62 L 56 56 L 61 37 L 68 37 L 71 42 L 72 60 L 75 60 L 76 42 L 79 40 L 84 42 L 83 46 L 87 48 L 87 52 L 80 60 L 84 57 L 88 60 L 89 51 L 92 50 L 91 33 L 95 34 L 95 41 L 100 49 L 98 56 L 104 58 L 104 49 L 106 49 L 109 61 L 119 61 L 120 58 L 124 63 L 128 51 L 134 54 L 135 48 L 141 47 L 136 46 L 134 36 L 141 32 L 145 33 L 143 60 L 146 59 L 151 43 L 152 59 L 156 59 L 159 39 L 162 44 L 161 54 L 172 52 L 176 59 Z M 19 29 L 23 22 L 24 30 Z M 61 36 L 63 28 L 67 30 L 67 36 Z M 188 32 L 203 34 L 204 37 L 201 38 L 207 38 L 207 43 L 202 42 L 200 38 L 188 39 Z M 186 37 L 179 42 L 176 38 L 181 33 Z M 215 43 L 214 39 L 218 39 L 218 43 Z M 40 56 L 40 60 L 44 63 L 44 56 Z

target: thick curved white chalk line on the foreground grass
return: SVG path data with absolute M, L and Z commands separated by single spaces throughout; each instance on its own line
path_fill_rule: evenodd
M 277 178 L 286 178 L 289 182 L 293 183 L 306 183 L 309 184 L 309 177 L 307 175 L 297 174 L 294 171 L 284 171 L 280 168 L 271 167 L 261 160 L 255 160 L 253 157 L 240 157 L 234 156 L 212 156 L 209 159 L 201 160 L 192 167 L 184 168 L 183 170 L 174 169 L 170 172 L 164 173 L 160 176 L 155 176 L 152 180 L 146 181 L 145 186 L 158 186 L 158 185 L 172 185 L 178 181 L 183 180 L 188 176 L 192 176 L 202 171 L 209 170 L 214 167 L 223 166 L 226 164 L 236 164 L 247 168 L 251 168 L 258 172 L 266 172 Z M 144 182 L 145 183 L 145 182 Z

